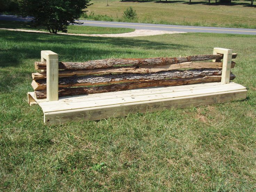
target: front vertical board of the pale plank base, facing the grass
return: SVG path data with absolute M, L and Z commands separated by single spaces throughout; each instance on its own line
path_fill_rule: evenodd
M 247 90 L 223 91 L 219 93 L 183 96 L 179 98 L 160 99 L 151 102 L 127 103 L 105 107 L 91 107 L 76 110 L 56 111 L 44 113 L 47 125 L 59 125 L 67 121 L 100 120 L 110 117 L 123 117 L 133 112 L 153 112 L 172 108 L 185 108 L 245 99 Z

